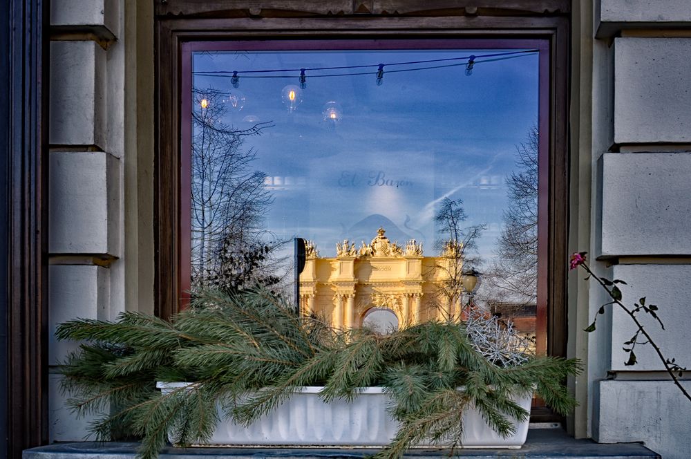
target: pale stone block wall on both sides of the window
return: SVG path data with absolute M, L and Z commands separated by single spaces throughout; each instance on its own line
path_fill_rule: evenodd
M 74 317 L 153 311 L 153 2 L 51 3 L 53 332 Z M 691 366 L 691 9 L 687 0 L 572 4 L 569 246 L 625 279 L 627 303 L 658 304 L 667 330 L 655 336 Z M 603 299 L 571 274 L 569 353 L 587 363 L 574 383 L 576 435 L 691 457 L 691 403 L 643 347 L 636 366 L 623 365 L 627 318 L 607 314 L 596 333 L 582 331 Z M 74 348 L 51 342 L 53 370 Z M 64 408 L 53 373 L 51 440 L 82 440 L 86 421 Z

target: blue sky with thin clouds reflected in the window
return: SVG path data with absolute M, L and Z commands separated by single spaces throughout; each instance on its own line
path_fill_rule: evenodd
M 354 66 L 493 51 L 196 53 L 193 70 Z M 257 121 L 274 124 L 245 143 L 257 152 L 254 169 L 269 176 L 274 203 L 267 229 L 278 239 L 312 239 L 322 256 L 334 256 L 337 241 L 369 242 L 383 225 L 392 241 L 416 238 L 430 254 L 437 203 L 462 198 L 466 224 L 488 225 L 477 242 L 480 254 L 491 259 L 507 205 L 504 180 L 515 168 L 515 145 L 538 120 L 538 55 L 478 62 L 471 76 L 464 70 L 385 73 L 381 86 L 375 75 L 307 73 L 302 102 L 292 113 L 281 101 L 281 90 L 299 84 L 298 77 L 241 76 L 244 106 L 229 105 L 225 122 L 238 129 Z M 234 91 L 229 77 L 217 75 L 194 75 L 193 86 Z M 335 125 L 323 120 L 330 101 L 342 110 Z

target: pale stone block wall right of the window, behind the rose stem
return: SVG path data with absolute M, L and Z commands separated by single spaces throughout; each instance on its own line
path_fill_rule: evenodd
M 649 317 L 645 326 L 665 355 L 691 366 L 689 3 L 596 1 L 594 35 L 591 258 L 602 274 L 627 281 L 625 303 L 645 296 L 659 306 L 665 330 Z M 612 73 L 603 71 L 608 62 Z M 603 299 L 595 288 L 590 318 Z M 615 309 L 598 321 L 600 335 L 589 335 L 589 433 L 599 442 L 643 441 L 664 458 L 691 457 L 691 402 L 650 346 L 636 347 L 638 364 L 624 364 L 623 342 L 634 332 Z

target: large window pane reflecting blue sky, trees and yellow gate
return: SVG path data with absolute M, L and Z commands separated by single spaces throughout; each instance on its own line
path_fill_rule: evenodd
M 197 52 L 192 86 L 192 290 L 291 295 L 299 237 L 303 314 L 539 331 L 538 53 Z

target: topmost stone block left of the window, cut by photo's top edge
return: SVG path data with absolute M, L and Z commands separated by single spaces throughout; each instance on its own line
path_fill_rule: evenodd
M 103 27 L 117 31 L 117 0 L 53 0 L 50 2 L 51 26 Z

